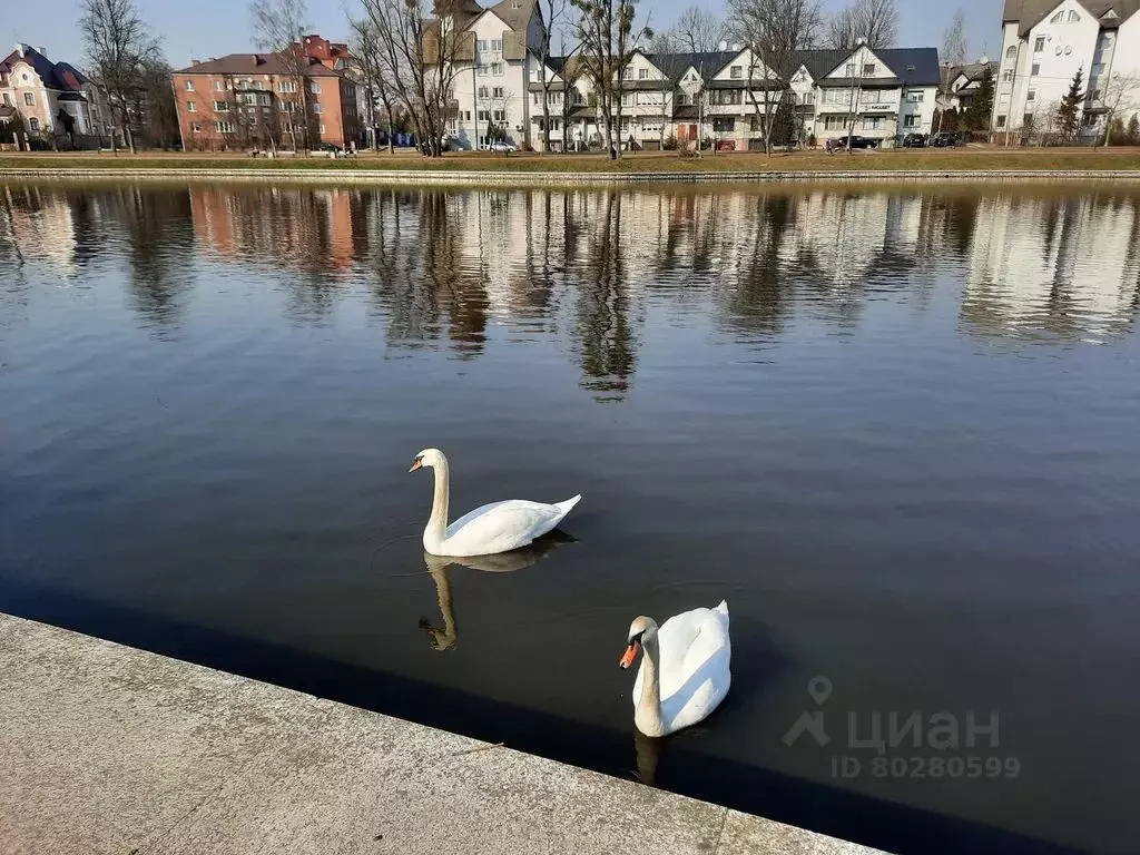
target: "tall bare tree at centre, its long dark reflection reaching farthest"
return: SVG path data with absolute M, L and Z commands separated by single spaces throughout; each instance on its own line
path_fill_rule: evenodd
M 621 128 L 624 76 L 641 39 L 652 39 L 649 26 L 634 27 L 637 0 L 570 0 L 581 13 L 576 34 L 581 42 L 584 72 L 597 93 L 611 158 L 621 157 L 613 145 L 613 127 Z

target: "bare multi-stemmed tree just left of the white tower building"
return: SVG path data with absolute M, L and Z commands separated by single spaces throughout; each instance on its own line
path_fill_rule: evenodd
M 439 16 L 434 18 L 425 0 L 361 2 L 376 31 L 383 78 L 394 90 L 392 104 L 408 108 L 421 150 L 439 157 L 455 97 L 457 62 L 474 62 L 474 33 L 464 28 L 466 21 L 457 2 L 437 2 Z

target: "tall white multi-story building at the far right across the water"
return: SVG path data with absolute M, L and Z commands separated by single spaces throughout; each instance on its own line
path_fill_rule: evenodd
M 1102 131 L 1114 88 L 1140 75 L 1138 11 L 1140 0 L 1005 0 L 993 129 L 1020 131 L 1028 122 L 1049 130 L 1080 70 L 1088 92 L 1082 132 Z

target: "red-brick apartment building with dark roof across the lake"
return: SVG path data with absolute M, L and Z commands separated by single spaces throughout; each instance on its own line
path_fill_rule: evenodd
M 275 54 L 230 54 L 174 72 L 184 148 L 290 149 L 294 139 L 303 147 L 306 122 L 310 147 L 359 140 L 357 85 L 344 71 L 347 49 L 316 35 L 304 41 L 301 79 Z

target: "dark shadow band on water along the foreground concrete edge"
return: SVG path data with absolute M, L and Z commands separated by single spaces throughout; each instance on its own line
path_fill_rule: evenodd
M 682 740 L 637 739 L 630 746 L 630 731 L 581 725 L 49 588 L 7 583 L 0 589 L 0 610 L 606 774 L 640 775 L 656 780 L 662 789 L 887 850 L 947 855 L 1073 852 L 993 826 L 701 756 Z M 684 785 L 674 787 L 674 781 Z

